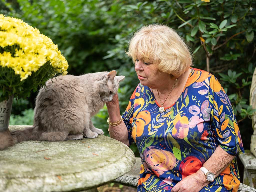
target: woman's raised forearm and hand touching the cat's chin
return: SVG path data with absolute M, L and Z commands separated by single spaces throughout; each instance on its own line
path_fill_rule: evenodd
M 119 109 L 119 100 L 118 100 L 117 93 L 113 96 L 113 99 L 111 102 L 106 103 L 106 106 L 108 108 L 110 122 L 119 121 L 120 120 L 120 109 Z M 108 131 L 109 131 L 109 135 L 111 138 L 121 141 L 125 145 L 129 146 L 128 130 L 123 121 L 117 126 L 109 125 Z

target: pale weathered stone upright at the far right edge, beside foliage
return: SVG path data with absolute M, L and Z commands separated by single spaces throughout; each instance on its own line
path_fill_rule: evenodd
M 252 76 L 252 84 L 250 89 L 250 105 L 252 105 L 252 109 L 256 109 L 256 69 L 254 70 Z M 251 152 L 256 157 L 256 114 L 252 116 L 252 128 L 254 132 L 251 137 Z

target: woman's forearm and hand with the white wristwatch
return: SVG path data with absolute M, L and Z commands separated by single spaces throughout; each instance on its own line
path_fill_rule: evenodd
M 203 167 L 214 173 L 215 177 L 217 177 L 230 164 L 234 157 L 218 146 Z M 172 188 L 172 192 L 198 192 L 209 183 L 206 180 L 205 174 L 199 169 L 196 173 L 178 182 Z

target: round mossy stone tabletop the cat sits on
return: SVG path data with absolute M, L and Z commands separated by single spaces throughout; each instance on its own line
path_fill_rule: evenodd
M 120 177 L 134 163 L 129 147 L 103 135 L 77 141 L 24 141 L 0 151 L 0 191 L 82 191 Z

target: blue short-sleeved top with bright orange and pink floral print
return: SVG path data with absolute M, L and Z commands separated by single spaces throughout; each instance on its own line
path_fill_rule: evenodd
M 237 120 L 216 77 L 191 68 L 178 100 L 160 114 L 152 90 L 140 83 L 133 92 L 124 122 L 142 164 L 137 191 L 164 192 L 195 173 L 218 145 L 231 155 L 244 153 Z M 237 159 L 201 191 L 237 191 Z

